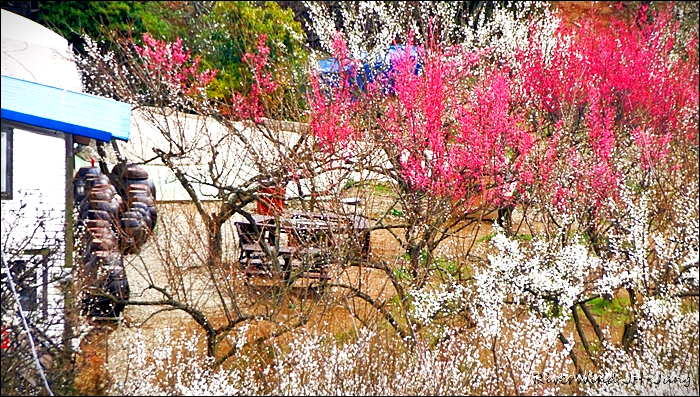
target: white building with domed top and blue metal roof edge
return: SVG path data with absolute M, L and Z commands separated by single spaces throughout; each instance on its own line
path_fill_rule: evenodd
M 68 42 L 2 10 L 2 257 L 22 307 L 61 335 L 72 266 L 74 142 L 128 140 L 131 107 L 82 93 Z M 38 266 L 35 266 L 38 264 Z M 7 277 L 3 264 L 3 309 Z M 3 328 L 13 321 L 3 311 Z M 56 320 L 58 318 L 58 320 Z

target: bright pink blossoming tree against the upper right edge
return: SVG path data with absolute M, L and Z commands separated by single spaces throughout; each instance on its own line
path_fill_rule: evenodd
M 696 169 L 697 35 L 679 45 L 670 9 L 641 6 L 635 21 L 593 15 L 554 42 L 533 34 L 513 65 L 538 136 L 530 199 L 596 244 L 621 184 L 673 194 Z

